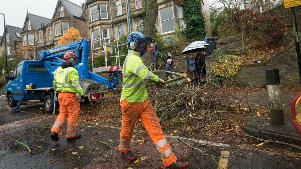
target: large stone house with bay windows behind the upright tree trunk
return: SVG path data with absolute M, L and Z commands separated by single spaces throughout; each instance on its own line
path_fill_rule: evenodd
M 83 16 L 86 19 L 87 38 L 110 37 L 118 39 L 131 31 L 143 29 L 141 14 L 144 12 L 145 0 L 86 0 L 83 4 Z M 206 19 L 207 37 L 211 36 L 209 0 L 203 1 L 203 14 Z M 175 0 L 158 0 L 157 30 L 166 42 L 166 46 L 174 46 L 173 31 L 175 24 L 185 28 L 182 7 Z

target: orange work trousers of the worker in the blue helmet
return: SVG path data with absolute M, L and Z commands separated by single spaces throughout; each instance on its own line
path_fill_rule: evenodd
M 161 159 L 165 167 L 174 163 L 177 158 L 171 151 L 166 137 L 163 134 L 159 118 L 156 115 L 150 99 L 142 103 L 129 103 L 123 100 L 120 103 L 122 110 L 122 128 L 120 132 L 119 150 L 121 152 L 130 151 L 131 138 L 137 119 L 141 119 L 153 143 L 161 153 Z

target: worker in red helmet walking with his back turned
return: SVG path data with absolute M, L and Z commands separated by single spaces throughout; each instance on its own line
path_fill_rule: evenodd
M 59 95 L 60 114 L 57 116 L 56 122 L 51 128 L 50 137 L 52 141 L 59 141 L 59 133 L 67 117 L 67 141 L 81 137 L 79 133 L 75 132 L 76 120 L 80 113 L 80 103 L 76 93 L 80 95 L 80 100 L 85 99 L 85 96 L 78 81 L 78 72 L 74 68 L 77 59 L 75 53 L 67 52 L 64 55 L 65 62 L 54 71 L 53 87 L 55 95 Z

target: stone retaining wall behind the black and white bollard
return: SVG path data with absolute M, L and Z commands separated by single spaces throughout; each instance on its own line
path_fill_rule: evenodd
M 210 67 L 215 63 L 214 57 L 206 57 L 206 69 L 210 72 Z M 299 84 L 299 69 L 295 44 L 276 54 L 263 63 L 241 65 L 238 75 L 227 81 L 229 86 L 243 86 L 266 83 L 266 69 L 279 69 L 281 84 Z

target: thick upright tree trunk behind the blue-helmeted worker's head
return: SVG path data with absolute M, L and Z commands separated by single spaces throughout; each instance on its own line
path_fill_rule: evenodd
M 146 38 L 153 38 L 157 17 L 158 17 L 158 1 L 148 0 L 146 6 L 146 16 L 144 19 L 144 28 L 143 28 L 143 34 L 145 35 Z M 152 52 L 148 51 L 142 57 L 142 61 L 147 67 L 150 67 L 153 64 Z

